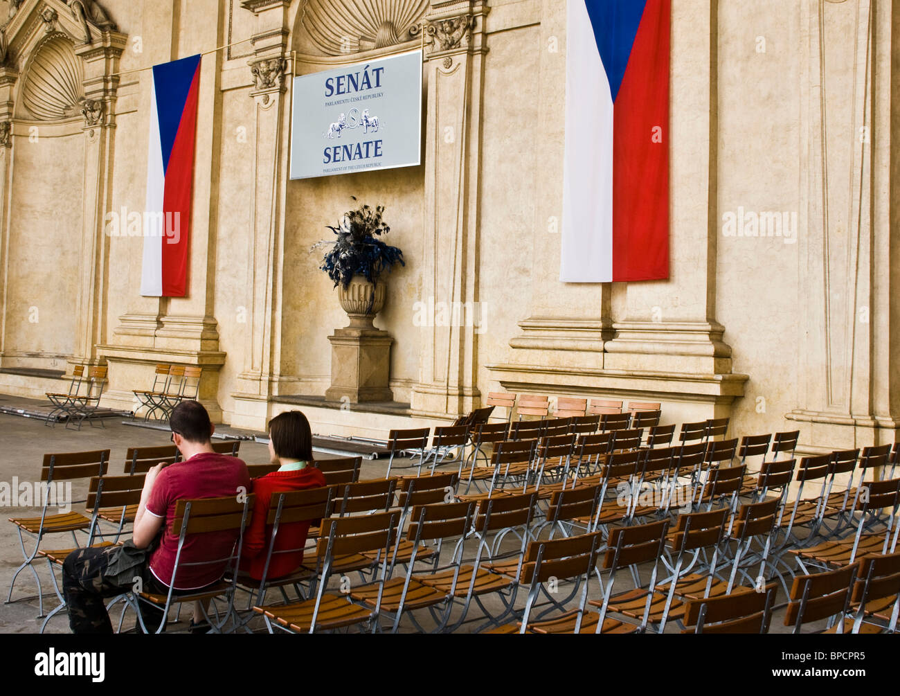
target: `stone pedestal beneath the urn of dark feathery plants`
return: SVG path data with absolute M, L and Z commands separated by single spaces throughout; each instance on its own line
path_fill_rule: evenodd
M 387 331 L 348 326 L 329 336 L 331 341 L 331 386 L 329 402 L 344 397 L 350 403 L 393 401 L 388 378 L 391 374 L 391 344 Z

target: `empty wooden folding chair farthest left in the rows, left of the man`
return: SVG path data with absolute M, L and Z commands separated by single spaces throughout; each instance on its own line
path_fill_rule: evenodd
M 9 584 L 9 594 L 6 603 L 13 601 L 13 588 L 16 578 L 25 568 L 31 571 L 34 582 L 38 585 L 38 616 L 44 615 L 43 591 L 40 587 L 40 577 L 34 569 L 32 562 L 38 556 L 40 542 L 48 534 L 62 534 L 69 532 L 75 546 L 78 544 L 76 531 L 83 531 L 88 538 L 93 537 L 96 525 L 96 513 L 85 515 L 71 510 L 76 503 L 86 503 L 86 498 L 80 501 L 59 501 L 58 487 L 56 484 L 74 484 L 85 482 L 89 484 L 93 476 L 106 474 L 109 465 L 110 450 L 98 449 L 91 452 L 67 452 L 63 454 L 44 455 L 43 464 L 40 466 L 40 481 L 42 483 L 40 494 L 43 497 L 40 517 L 16 518 L 11 517 L 16 531 L 19 533 L 19 547 L 22 549 L 23 563 L 15 569 L 13 580 Z M 65 496 L 64 496 L 65 497 Z M 51 508 L 67 507 L 69 511 L 51 514 Z M 31 551 L 25 548 L 25 536 L 34 538 L 34 548 Z

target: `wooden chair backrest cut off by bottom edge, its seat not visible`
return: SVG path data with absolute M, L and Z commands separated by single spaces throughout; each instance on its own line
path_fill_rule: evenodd
M 778 585 L 685 602 L 682 633 L 769 633 Z

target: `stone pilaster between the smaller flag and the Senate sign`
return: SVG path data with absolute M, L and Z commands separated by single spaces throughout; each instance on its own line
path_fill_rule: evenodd
M 246 0 L 241 6 L 256 14 L 257 31 L 248 61 L 253 76 L 256 151 L 254 189 L 249 195 L 253 224 L 251 256 L 247 259 L 247 336 L 244 366 L 238 375 L 232 424 L 263 428 L 268 403 L 275 392 L 281 361 L 282 265 L 284 207 L 288 177 L 291 77 L 287 39 L 290 0 Z

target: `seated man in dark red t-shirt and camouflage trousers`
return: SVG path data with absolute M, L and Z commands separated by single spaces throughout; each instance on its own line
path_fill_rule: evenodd
M 198 402 L 175 406 L 169 427 L 184 461 L 150 469 L 131 533 L 133 546 L 138 549 L 150 547 L 157 535 L 161 536 L 159 545 L 143 566 L 135 568 L 133 577 L 124 579 L 107 573 L 121 553 L 119 547 L 82 548 L 67 556 L 63 563 L 63 593 L 73 633 L 112 633 L 103 599 L 129 591 L 138 578 L 145 592 L 167 594 L 171 586 L 174 592 L 184 593 L 217 583 L 225 572 L 237 534 L 208 532 L 185 539 L 177 574 L 172 577 L 178 549 L 178 537 L 172 534 L 175 506 L 182 499 L 249 493 L 247 465 L 237 457 L 213 451 L 210 438 L 215 428 L 209 413 Z M 226 560 L 220 563 L 204 563 L 223 558 Z M 162 622 L 162 610 L 146 602 L 140 602 L 140 610 L 146 628 L 155 631 Z

